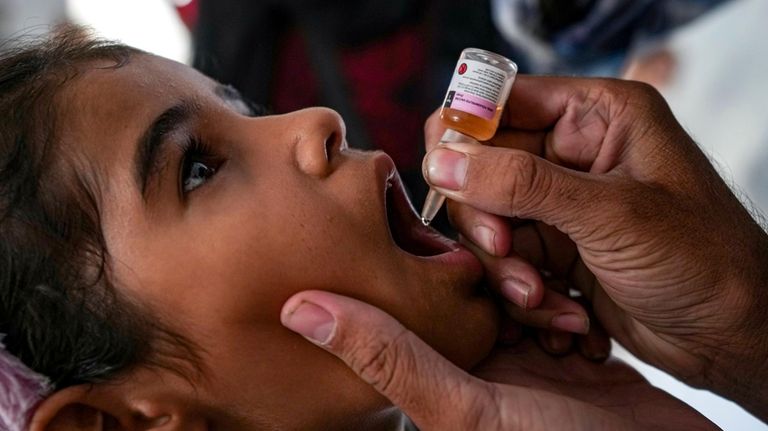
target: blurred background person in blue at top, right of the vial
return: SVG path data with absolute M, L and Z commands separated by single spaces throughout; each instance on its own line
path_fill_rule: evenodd
M 491 0 L 493 21 L 529 72 L 667 82 L 669 33 L 726 0 Z

